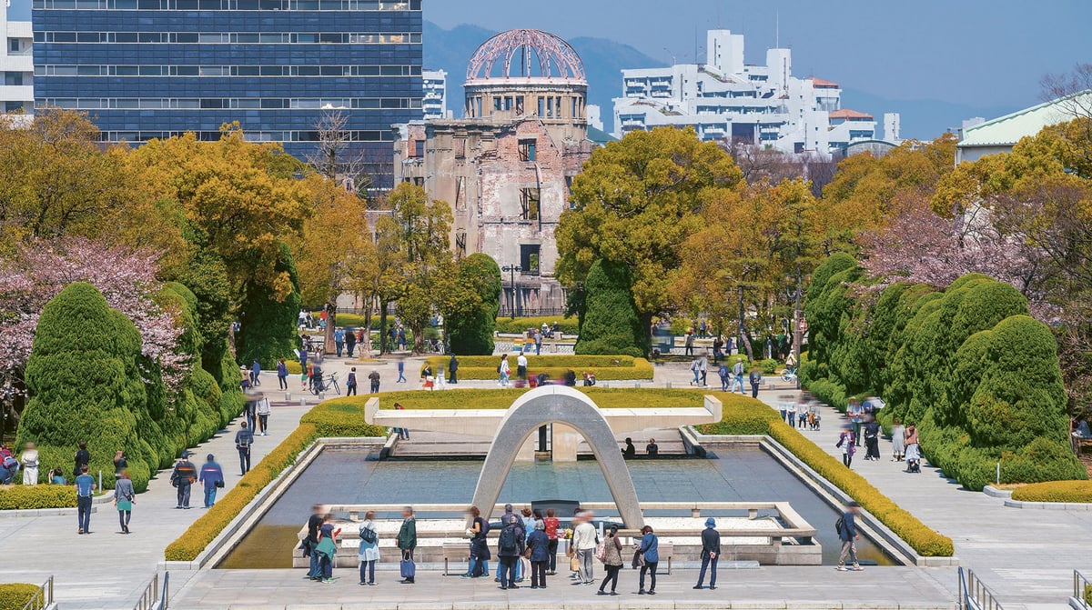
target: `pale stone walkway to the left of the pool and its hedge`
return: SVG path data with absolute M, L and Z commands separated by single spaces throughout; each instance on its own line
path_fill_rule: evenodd
M 263 388 L 276 388 L 276 376 L 262 375 Z M 275 400 L 276 396 L 271 395 Z M 312 397 L 313 398 L 313 397 Z M 309 407 L 308 407 L 309 408 Z M 251 464 L 258 464 L 270 450 L 281 443 L 299 424 L 307 408 L 273 403 L 268 436 L 257 436 L 251 448 Z M 200 468 L 209 453 L 217 457 L 224 469 L 225 487 L 219 495 L 239 481 L 238 452 L 235 432 L 239 419 L 227 430 L 191 451 Z M 74 516 L 45 516 L 0 519 L 0 583 L 40 584 L 52 574 L 55 597 L 63 610 L 91 608 L 132 608 L 163 560 L 163 550 L 204 514 L 203 491 L 194 486 L 189 511 L 175 510 L 176 489 L 170 486 L 170 471 L 162 470 L 149 483 L 146 492 L 136 497 L 130 528 L 132 534 L 118 533 L 118 515 L 114 505 L 97 504 L 91 517 L 91 536 L 76 535 Z M 173 588 L 189 574 L 171 573 Z

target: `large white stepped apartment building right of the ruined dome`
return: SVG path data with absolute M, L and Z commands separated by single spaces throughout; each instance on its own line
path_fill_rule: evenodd
M 767 50 L 765 65 L 746 64 L 744 36 L 712 29 L 705 53 L 704 64 L 622 70 L 615 135 L 692 127 L 705 141 L 820 155 L 877 137 L 871 115 L 842 108 L 838 83 L 793 76 L 790 49 Z

